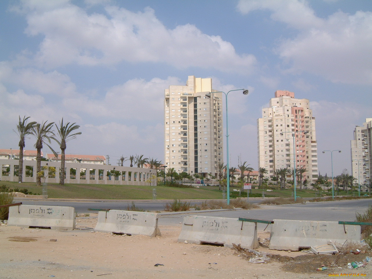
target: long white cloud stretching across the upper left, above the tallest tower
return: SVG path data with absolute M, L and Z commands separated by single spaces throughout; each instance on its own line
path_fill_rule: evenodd
M 204 34 L 194 25 L 167 29 L 150 7 L 134 13 L 107 6 L 106 13 L 87 14 L 71 3 L 48 9 L 32 5 L 26 15 L 26 33 L 44 36 L 35 60 L 47 68 L 71 63 L 164 62 L 176 68 L 196 66 L 244 74 L 256 64 L 253 55 L 237 54 L 230 42 Z

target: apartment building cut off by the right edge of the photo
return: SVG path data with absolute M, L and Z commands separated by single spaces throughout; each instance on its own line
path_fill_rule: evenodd
M 351 141 L 352 176 L 358 185 L 371 185 L 370 162 L 372 160 L 372 118 L 366 118 L 363 126 L 354 129 L 354 140 Z M 366 189 L 361 189 L 366 190 Z

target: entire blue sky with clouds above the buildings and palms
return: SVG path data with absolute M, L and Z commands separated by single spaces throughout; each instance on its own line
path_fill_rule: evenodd
M 164 89 L 190 75 L 250 91 L 228 97 L 233 166 L 257 169 L 276 90 L 310 100 L 321 174 L 323 150 L 342 151 L 335 175 L 351 172 L 353 129 L 372 117 L 372 1 L 0 1 L 0 49 L 0 148 L 18 148 L 19 115 L 63 117 L 82 132 L 68 154 L 163 160 Z

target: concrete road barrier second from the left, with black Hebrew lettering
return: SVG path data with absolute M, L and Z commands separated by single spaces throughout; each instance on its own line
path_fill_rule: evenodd
M 94 231 L 130 235 L 142 234 L 151 237 L 161 235 L 157 213 L 123 210 L 98 212 L 98 221 Z

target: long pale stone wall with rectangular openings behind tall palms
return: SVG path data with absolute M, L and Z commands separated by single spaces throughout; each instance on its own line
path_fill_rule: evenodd
M 1 180 L 3 181 L 16 181 L 18 176 L 15 173 L 19 166 L 19 160 L 0 159 L 1 166 Z M 26 166 L 32 167 L 32 177 L 26 176 Z M 41 161 L 41 166 L 55 167 L 53 177 L 48 177 L 45 182 L 59 183 L 60 182 L 60 168 L 61 162 Z M 9 167 L 10 171 L 7 173 L 5 170 Z M 76 175 L 70 173 L 70 169 L 76 169 Z M 120 171 L 121 175 L 115 177 L 108 176 L 107 171 Z M 65 183 L 77 184 L 117 184 L 117 185 L 156 185 L 157 171 L 154 169 L 137 168 L 137 167 L 121 167 L 112 165 L 101 164 L 84 164 L 84 163 L 65 163 L 66 175 Z M 94 170 L 94 174 L 90 175 L 90 171 Z M 80 176 L 80 172 L 85 172 L 85 175 Z M 99 173 L 101 175 L 99 175 Z M 4 175 L 6 174 L 6 175 Z M 50 176 L 50 175 L 49 175 Z M 155 177 L 153 177 L 155 176 Z M 151 177 L 153 177 L 151 179 Z M 22 182 L 35 182 L 36 183 L 36 161 L 23 160 L 23 175 Z M 44 178 L 41 179 L 44 182 Z

